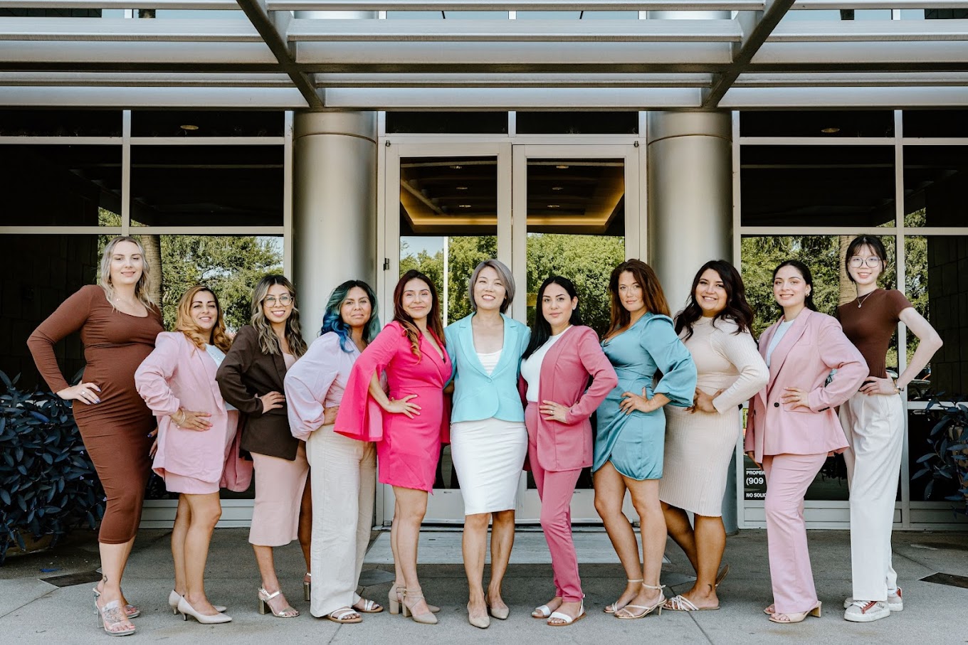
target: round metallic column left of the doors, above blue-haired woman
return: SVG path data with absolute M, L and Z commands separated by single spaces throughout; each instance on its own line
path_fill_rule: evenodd
M 312 341 L 333 287 L 376 285 L 377 114 L 303 112 L 293 126 L 292 273 Z

